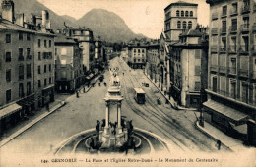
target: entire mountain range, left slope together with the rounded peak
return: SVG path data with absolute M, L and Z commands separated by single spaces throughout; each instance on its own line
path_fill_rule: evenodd
M 30 17 L 31 14 L 41 15 L 42 10 L 48 10 L 51 26 L 54 30 L 67 26 L 78 28 L 91 28 L 95 36 L 108 42 L 129 41 L 134 38 L 145 38 L 143 34 L 135 34 L 118 15 L 103 9 L 93 9 L 81 19 L 76 20 L 68 15 L 59 16 L 37 0 L 13 0 L 15 13 L 24 13 Z M 2 2 L 2 0 L 0 0 Z M 1 12 L 0 8 L 0 12 Z M 147 37 L 146 37 L 147 38 Z

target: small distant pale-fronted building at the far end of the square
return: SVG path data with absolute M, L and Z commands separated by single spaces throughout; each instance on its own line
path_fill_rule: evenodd
M 133 69 L 144 69 L 147 57 L 147 45 L 137 43 L 128 45 L 128 65 Z

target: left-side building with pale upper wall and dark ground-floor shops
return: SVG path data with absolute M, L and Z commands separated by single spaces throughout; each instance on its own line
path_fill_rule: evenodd
M 58 34 L 55 38 L 55 89 L 74 92 L 82 85 L 82 49 L 77 40 Z

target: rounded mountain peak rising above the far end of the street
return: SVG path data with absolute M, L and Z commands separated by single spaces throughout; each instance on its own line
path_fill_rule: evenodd
M 109 42 L 127 42 L 134 38 L 145 37 L 142 34 L 135 34 L 118 15 L 103 9 L 91 10 L 75 24 L 91 28 L 95 36 L 99 35 L 103 40 Z

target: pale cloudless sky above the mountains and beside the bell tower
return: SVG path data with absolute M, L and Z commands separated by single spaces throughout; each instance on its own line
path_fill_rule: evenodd
M 178 0 L 37 0 L 58 15 L 75 19 L 93 8 L 101 8 L 120 16 L 135 33 L 160 38 L 164 25 L 164 8 Z M 198 4 L 198 23 L 209 25 L 210 7 L 206 0 L 182 0 Z

